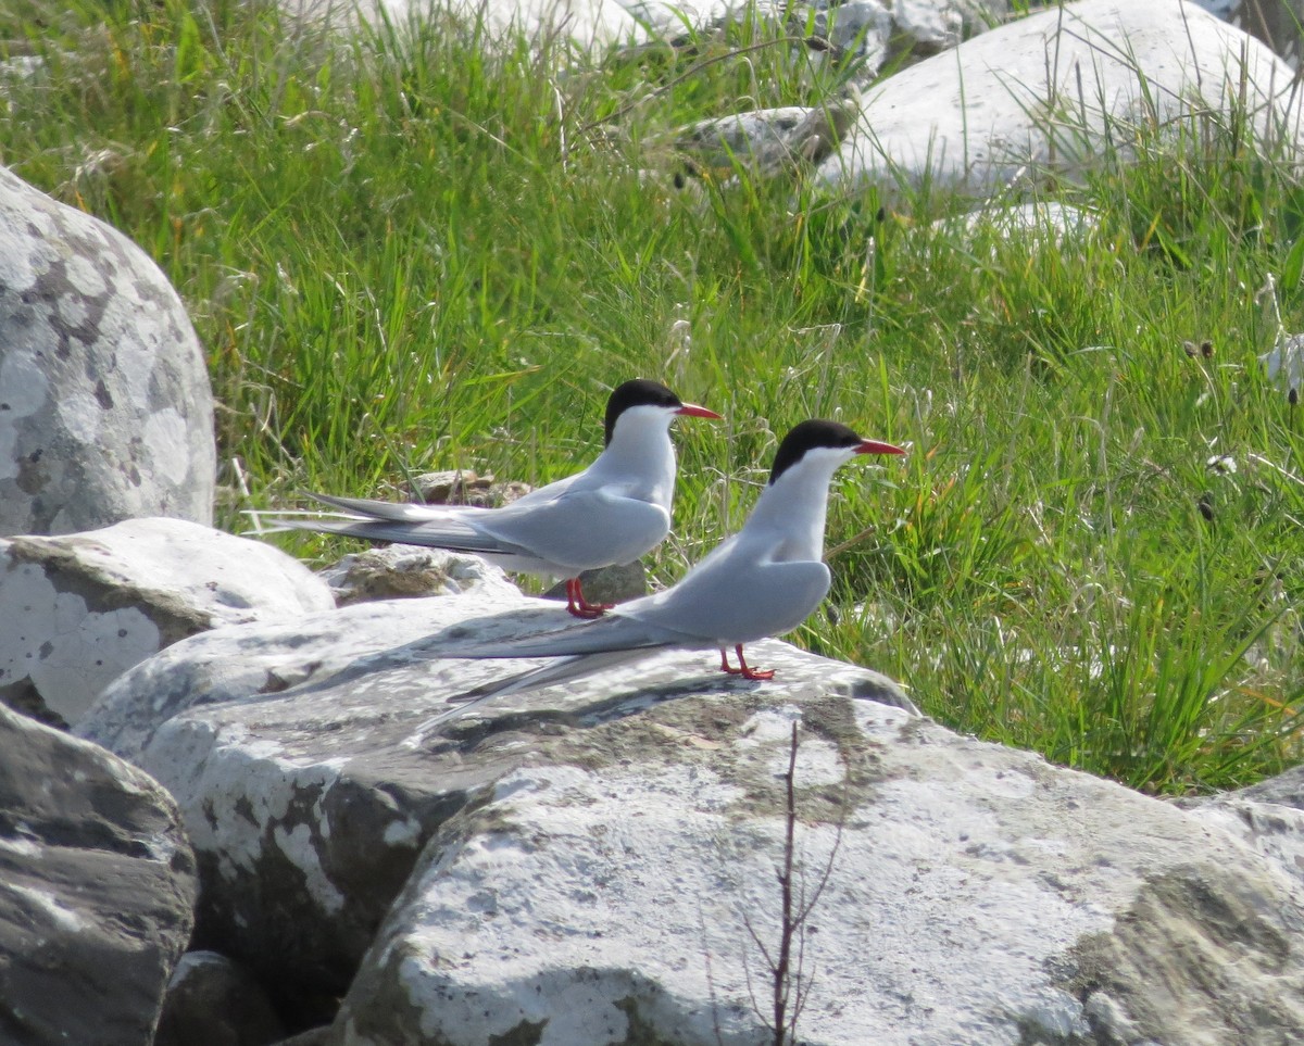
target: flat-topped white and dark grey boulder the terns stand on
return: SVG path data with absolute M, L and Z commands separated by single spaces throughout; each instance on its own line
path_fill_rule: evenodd
M 489 719 L 428 725 L 451 695 L 519 668 L 433 655 L 570 621 L 556 604 L 480 591 L 205 633 L 119 678 L 77 732 L 176 797 L 203 880 L 201 947 L 286 991 L 343 993 L 425 841 L 549 736 L 756 686 L 720 674 L 719 656 L 665 653 L 505 698 Z M 908 703 L 871 672 L 782 643 L 754 655 L 778 669 L 776 693 Z

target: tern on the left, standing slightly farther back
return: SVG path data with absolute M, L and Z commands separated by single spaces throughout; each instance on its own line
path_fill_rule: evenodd
M 313 494 L 339 519 L 274 519 L 276 530 L 305 530 L 469 552 L 505 570 L 566 579 L 566 609 L 592 618 L 610 604 L 584 599 L 579 575 L 629 563 L 670 532 L 675 417 L 713 417 L 660 382 L 635 378 L 606 402 L 605 449 L 582 472 L 532 490 L 501 509 L 398 505 Z

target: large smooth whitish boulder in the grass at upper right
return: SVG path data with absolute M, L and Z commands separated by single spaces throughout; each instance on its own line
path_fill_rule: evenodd
M 987 196 L 1043 172 L 1072 176 L 1132 128 L 1226 121 L 1234 107 L 1261 138 L 1297 150 L 1292 83 L 1266 46 L 1194 5 L 1080 0 L 867 89 L 859 121 L 816 173 L 888 193 L 931 180 Z

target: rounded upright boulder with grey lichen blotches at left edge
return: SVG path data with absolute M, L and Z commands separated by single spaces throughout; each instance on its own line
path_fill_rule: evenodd
M 207 365 L 136 244 L 0 168 L 0 535 L 213 520 Z

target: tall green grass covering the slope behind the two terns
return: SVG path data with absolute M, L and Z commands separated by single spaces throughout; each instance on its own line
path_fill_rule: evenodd
M 938 187 L 885 215 L 786 180 L 677 189 L 669 130 L 845 76 L 777 31 L 587 60 L 250 7 L 0 13 L 0 59 L 43 63 L 4 80 L 0 159 L 181 292 L 224 527 L 432 468 L 554 479 L 595 453 L 610 386 L 661 377 L 728 416 L 678 425 L 661 582 L 742 522 L 776 436 L 838 416 L 915 453 L 844 470 L 831 613 L 798 642 L 1140 788 L 1299 760 L 1304 420 L 1256 355 L 1269 275 L 1304 323 L 1304 189 L 1243 128 L 1116 128 L 1133 151 L 1063 187 L 1099 231 L 1060 249 L 935 223 L 966 206 Z

